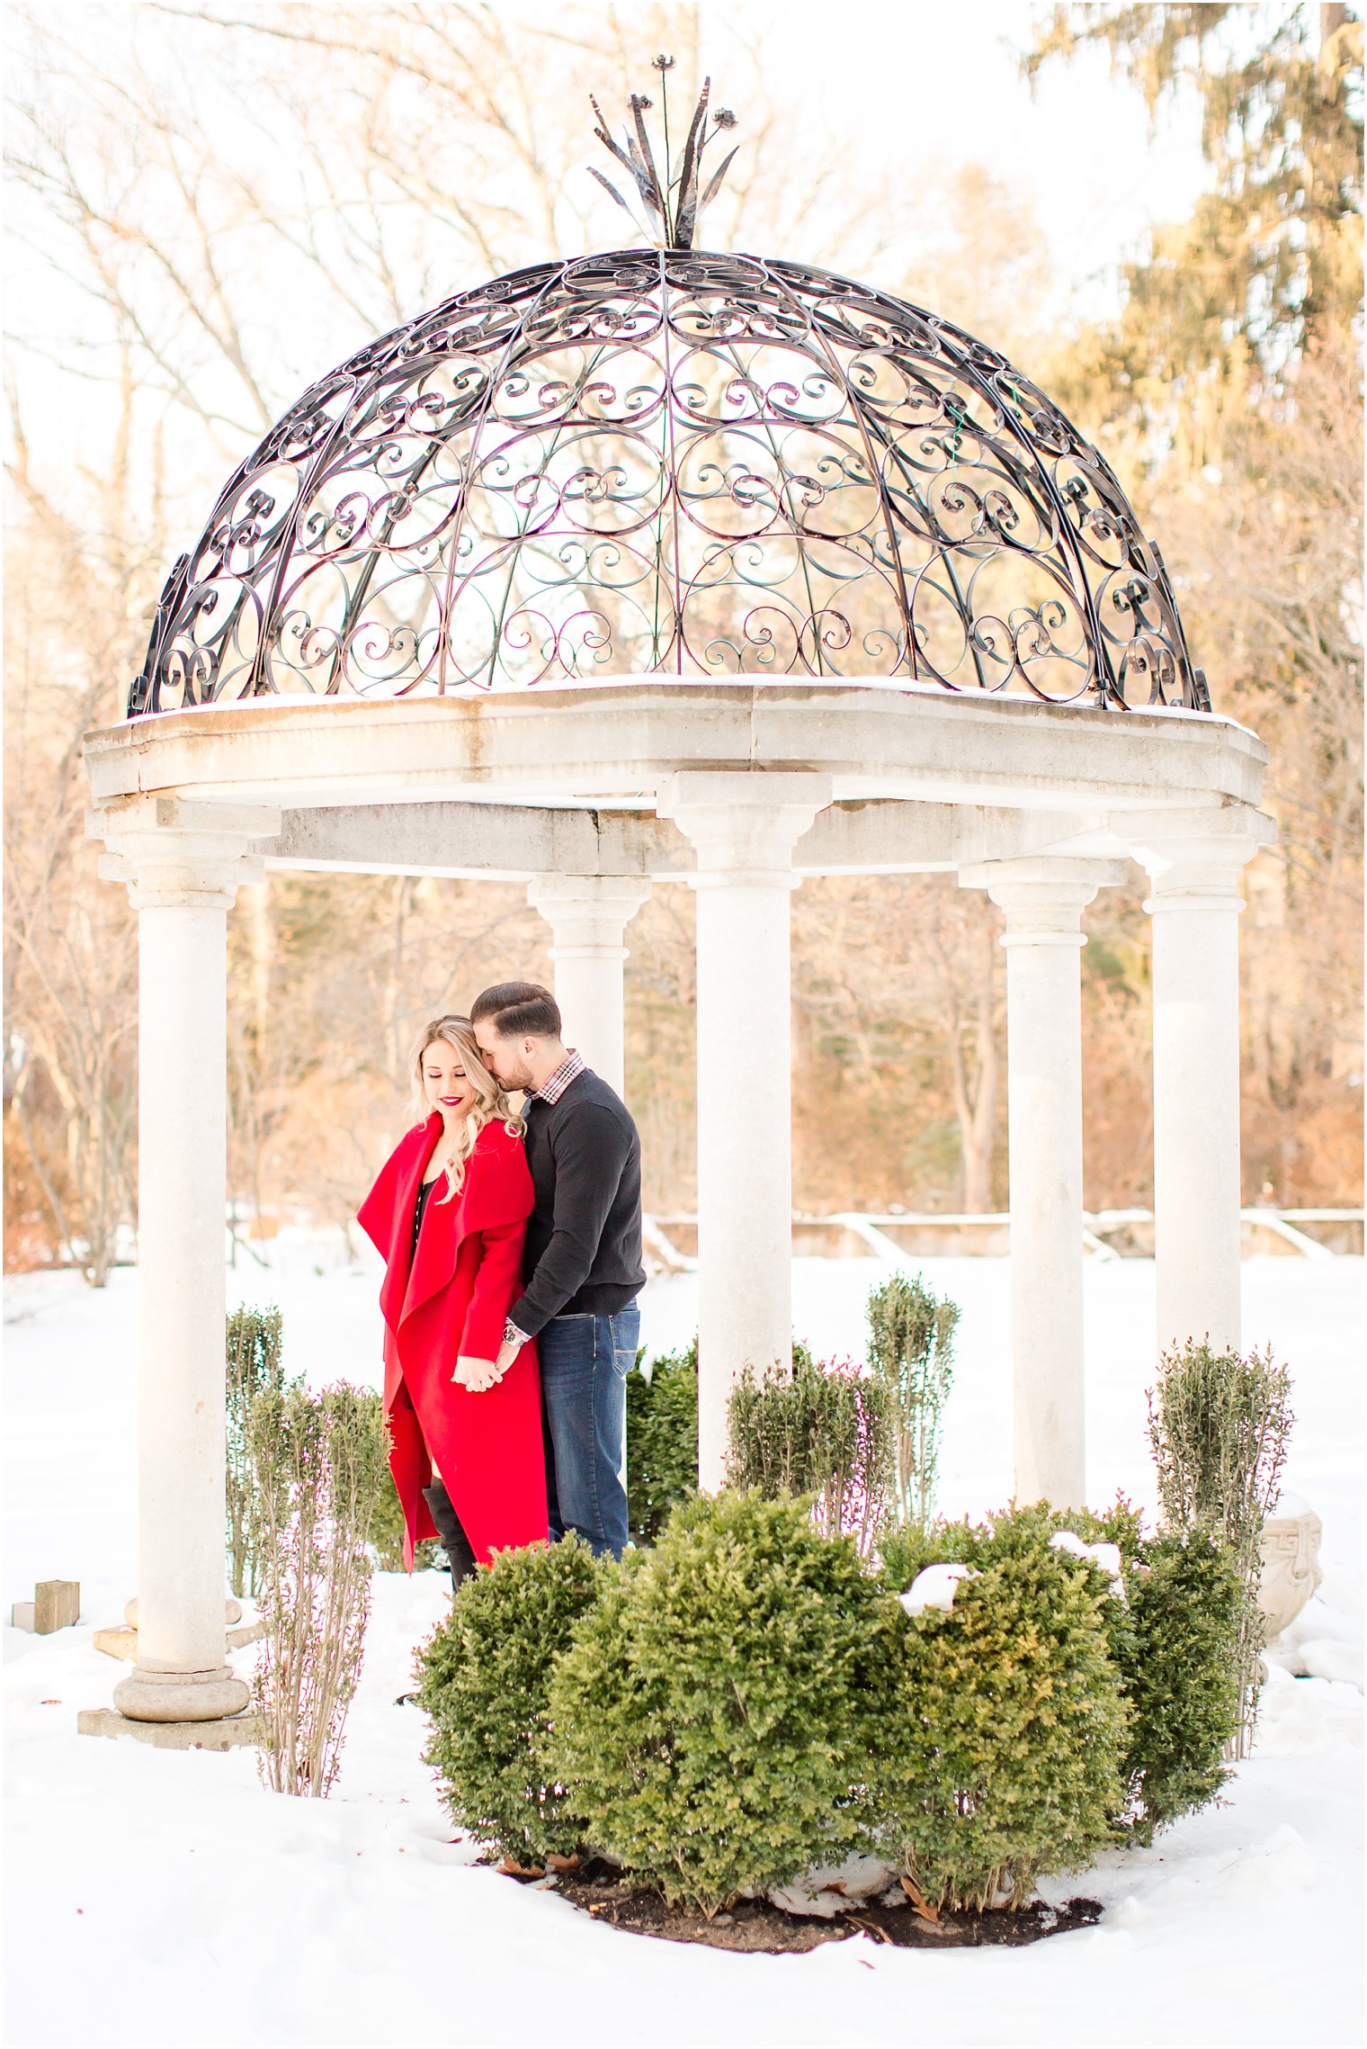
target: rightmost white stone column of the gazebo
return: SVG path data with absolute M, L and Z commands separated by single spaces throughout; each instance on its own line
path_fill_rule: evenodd
M 1238 889 L 1275 828 L 1244 805 L 1126 824 L 1152 883 L 1158 1350 L 1238 1350 Z

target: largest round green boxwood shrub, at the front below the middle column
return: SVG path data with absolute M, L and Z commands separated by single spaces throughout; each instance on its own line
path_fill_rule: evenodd
M 862 1842 L 902 1615 L 806 1500 L 684 1502 L 610 1567 L 550 1682 L 589 1840 L 716 1914 Z

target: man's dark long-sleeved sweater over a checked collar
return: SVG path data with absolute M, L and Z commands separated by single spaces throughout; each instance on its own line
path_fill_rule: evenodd
M 534 1207 L 522 1297 L 508 1320 L 534 1338 L 553 1315 L 616 1315 L 645 1285 L 641 1137 L 632 1115 L 591 1070 L 559 1102 L 526 1106 Z

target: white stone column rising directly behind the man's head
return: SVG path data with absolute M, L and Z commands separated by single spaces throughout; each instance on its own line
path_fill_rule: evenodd
M 645 875 L 538 875 L 526 895 L 555 934 L 550 959 L 565 1043 L 624 1096 L 622 934 L 651 895 L 651 883 Z

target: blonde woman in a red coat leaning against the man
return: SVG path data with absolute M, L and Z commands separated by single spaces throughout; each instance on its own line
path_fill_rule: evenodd
M 440 1537 L 460 1580 L 493 1551 L 546 1537 L 536 1346 L 524 1344 L 503 1371 L 497 1363 L 522 1291 L 532 1176 L 522 1119 L 469 1018 L 426 1027 L 413 1086 L 422 1123 L 381 1168 L 358 1221 L 385 1260 L 385 1414 L 403 1559 L 411 1572 L 413 1545 Z

